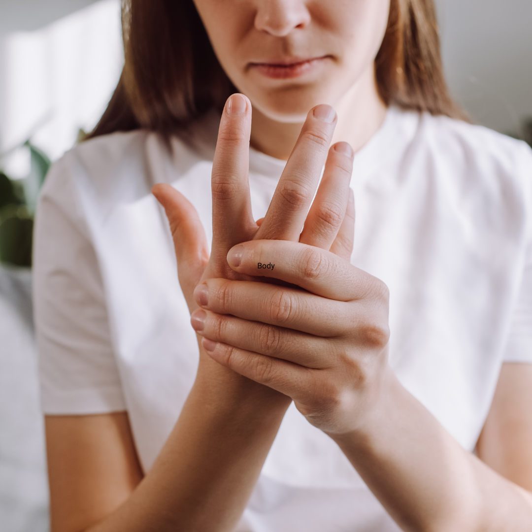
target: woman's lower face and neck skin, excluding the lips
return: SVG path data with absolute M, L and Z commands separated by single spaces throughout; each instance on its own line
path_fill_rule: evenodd
M 377 94 L 373 59 L 383 40 L 389 0 L 196 0 L 214 51 L 253 105 L 251 144 L 288 159 L 307 112 L 334 107 L 332 142 L 358 151 L 378 130 L 386 107 Z M 341 16 L 339 14 L 341 13 Z M 322 57 L 297 79 L 261 76 L 253 64 Z

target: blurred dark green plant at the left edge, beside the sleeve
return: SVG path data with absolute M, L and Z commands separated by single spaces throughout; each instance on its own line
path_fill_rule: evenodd
M 31 170 L 25 179 L 12 180 L 0 172 L 0 262 L 31 267 L 35 207 L 50 160 L 29 141 Z

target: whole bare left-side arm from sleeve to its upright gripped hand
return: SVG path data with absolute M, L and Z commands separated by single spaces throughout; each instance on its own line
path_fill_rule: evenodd
M 227 263 L 227 252 L 238 242 L 295 239 L 346 259 L 351 255 L 353 151 L 346 143 L 328 149 L 336 122 L 330 106 L 309 112 L 270 209 L 257 223 L 247 182 L 251 104 L 242 95 L 229 99 L 213 162 L 210 255 L 192 204 L 168 185 L 154 187 L 169 215 L 191 312 L 197 308 L 194 288 L 203 281 L 254 279 Z M 309 230 L 300 236 L 303 223 Z M 127 414 L 47 416 L 52 531 L 232 530 L 289 403 L 286 395 L 218 364 L 200 346 L 194 386 L 144 477 Z

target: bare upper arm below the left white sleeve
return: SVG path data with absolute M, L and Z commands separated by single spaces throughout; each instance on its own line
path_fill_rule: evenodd
M 116 510 L 143 473 L 126 412 L 46 416 L 52 532 L 81 532 Z

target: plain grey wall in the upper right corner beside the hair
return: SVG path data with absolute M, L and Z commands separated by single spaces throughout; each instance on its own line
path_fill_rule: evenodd
M 479 123 L 532 117 L 532 0 L 436 0 L 447 79 Z

